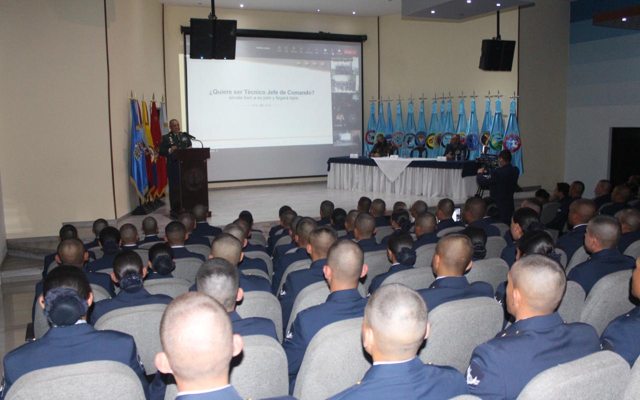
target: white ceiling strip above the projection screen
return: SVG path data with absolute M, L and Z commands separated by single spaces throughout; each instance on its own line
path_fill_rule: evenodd
M 211 0 L 160 0 L 175 6 L 211 8 Z M 280 11 L 329 15 L 353 15 L 379 17 L 399 14 L 401 0 L 216 0 L 216 8 L 240 8 L 243 10 Z M 320 12 L 317 12 L 317 10 Z

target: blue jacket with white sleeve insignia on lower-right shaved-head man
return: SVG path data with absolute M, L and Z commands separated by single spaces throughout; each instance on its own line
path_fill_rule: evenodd
M 600 351 L 593 326 L 565 324 L 557 312 L 518 321 L 477 346 L 467 369 L 469 394 L 516 399 L 537 374 Z

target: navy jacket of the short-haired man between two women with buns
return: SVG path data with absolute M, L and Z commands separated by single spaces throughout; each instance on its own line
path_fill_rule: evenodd
M 420 289 L 418 293 L 426 301 L 429 310 L 433 310 L 447 301 L 483 296 L 493 298 L 493 287 L 486 282 L 470 284 L 466 276 L 444 276 L 436 279 L 428 289 Z

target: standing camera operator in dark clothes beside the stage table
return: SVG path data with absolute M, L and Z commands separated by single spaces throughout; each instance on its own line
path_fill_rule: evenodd
M 500 168 L 486 171 L 484 168 L 478 170 L 476 181 L 479 186 L 489 187 L 489 196 L 495 200 L 500 210 L 500 221 L 511 225 L 511 216 L 515 207 L 513 205 L 513 193 L 518 187 L 518 177 L 520 170 L 511 165 L 511 152 L 502 150 L 498 154 Z

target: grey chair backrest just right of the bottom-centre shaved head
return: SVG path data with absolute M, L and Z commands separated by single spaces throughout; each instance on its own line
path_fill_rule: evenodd
M 499 303 L 488 297 L 439 305 L 429 311 L 431 333 L 418 353 L 420 360 L 425 364 L 451 365 L 464 374 L 476 346 L 502 329 L 503 314 Z

